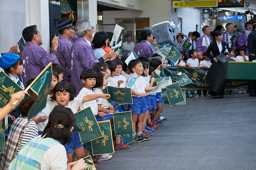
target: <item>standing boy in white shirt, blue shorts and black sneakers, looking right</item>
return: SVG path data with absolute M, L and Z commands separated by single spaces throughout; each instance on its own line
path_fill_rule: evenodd
M 139 77 L 131 87 L 132 91 L 132 100 L 134 104 L 129 105 L 129 110 L 132 111 L 132 128 L 133 128 L 133 138 L 136 142 L 142 142 L 144 140 L 150 139 L 149 137 L 145 137 L 142 134 L 143 130 L 143 121 L 144 115 L 147 110 L 147 101 L 145 94 L 145 80 L 141 76 L 143 74 L 143 65 L 140 60 L 131 60 L 128 64 L 128 68 L 132 73 L 136 73 Z M 128 81 L 129 82 L 129 81 Z M 140 96 L 140 97 L 138 97 Z M 136 134 L 135 125 L 138 120 L 138 134 Z

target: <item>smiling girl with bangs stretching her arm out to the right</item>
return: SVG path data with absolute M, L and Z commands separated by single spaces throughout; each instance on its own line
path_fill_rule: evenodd
M 107 99 L 110 97 L 109 94 L 92 94 L 84 97 L 75 97 L 76 88 L 73 84 L 67 82 L 58 83 L 53 89 L 52 101 L 56 101 L 57 104 L 63 105 L 67 108 L 71 108 L 73 113 L 78 112 L 79 106 L 83 106 L 84 102 L 94 100 L 97 98 Z M 75 158 L 73 161 L 77 161 L 84 157 L 83 144 L 80 140 L 78 133 L 71 133 L 71 142 L 64 145 L 67 151 L 68 163 L 72 161 L 72 151 L 75 151 Z

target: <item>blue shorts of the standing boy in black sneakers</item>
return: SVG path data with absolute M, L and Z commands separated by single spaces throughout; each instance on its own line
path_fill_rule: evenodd
M 129 104 L 129 110 L 132 114 L 141 114 L 147 112 L 147 101 L 146 97 L 132 96 L 133 104 Z

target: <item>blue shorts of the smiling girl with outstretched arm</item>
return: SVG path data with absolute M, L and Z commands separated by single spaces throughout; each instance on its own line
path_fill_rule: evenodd
M 67 153 L 71 153 L 73 149 L 78 149 L 79 147 L 83 146 L 83 143 L 81 142 L 78 132 L 71 133 L 70 138 L 71 141 L 64 145 Z

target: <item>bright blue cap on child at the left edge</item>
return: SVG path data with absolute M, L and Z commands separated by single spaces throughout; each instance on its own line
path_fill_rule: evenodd
M 15 53 L 6 53 L 0 57 L 0 66 L 5 70 L 6 68 L 11 67 L 20 56 Z

